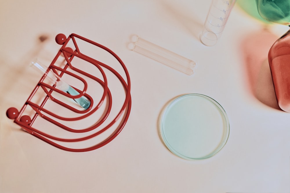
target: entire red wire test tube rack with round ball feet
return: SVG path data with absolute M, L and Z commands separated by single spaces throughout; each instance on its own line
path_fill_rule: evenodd
M 112 141 L 128 120 L 131 110 L 128 70 L 113 51 L 77 34 L 68 38 L 58 34 L 55 41 L 62 46 L 47 72 L 53 71 L 61 78 L 77 82 L 78 86 L 72 87 L 79 94 L 70 95 L 55 84 L 48 84 L 47 73 L 44 73 L 23 107 L 19 111 L 11 107 L 6 115 L 29 134 L 59 149 L 74 152 L 98 149 Z M 86 46 L 90 48 L 84 49 Z M 104 53 L 91 53 L 92 48 Z M 98 58 L 107 54 L 104 59 L 108 59 L 110 64 L 115 63 L 116 68 L 89 57 L 83 51 Z M 109 89 L 112 84 L 114 88 L 119 84 L 117 91 Z M 71 102 L 80 97 L 90 101 L 87 109 L 75 107 Z

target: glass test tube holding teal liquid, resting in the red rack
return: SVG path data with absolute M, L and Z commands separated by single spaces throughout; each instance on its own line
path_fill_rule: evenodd
M 48 67 L 43 66 L 39 62 L 32 62 L 31 66 L 34 67 L 37 71 L 46 74 L 46 78 L 52 84 L 56 84 L 57 89 L 67 92 L 72 96 L 79 95 L 79 92 L 77 92 L 73 87 L 71 87 L 64 80 L 62 80 L 61 77 L 55 74 L 52 70 L 47 71 Z M 90 107 L 90 101 L 84 96 L 81 96 L 80 98 L 75 98 L 74 100 L 84 109 L 88 109 Z

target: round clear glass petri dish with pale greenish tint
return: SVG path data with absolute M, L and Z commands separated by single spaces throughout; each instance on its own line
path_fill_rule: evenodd
M 222 106 L 202 94 L 173 100 L 160 120 L 160 134 L 167 148 L 187 160 L 214 156 L 229 137 L 229 120 Z

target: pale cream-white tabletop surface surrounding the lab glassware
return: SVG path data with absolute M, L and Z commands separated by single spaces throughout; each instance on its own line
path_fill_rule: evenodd
M 0 192 L 290 192 L 290 114 L 275 107 L 267 52 L 287 27 L 268 26 L 239 6 L 213 47 L 199 41 L 210 0 L 0 1 Z M 21 131 L 6 117 L 30 85 L 29 61 L 55 56 L 55 35 L 76 33 L 113 50 L 131 78 L 132 110 L 104 147 L 74 153 Z M 49 39 L 40 44 L 39 35 Z M 197 62 L 186 75 L 127 48 L 138 34 Z M 33 78 L 32 78 L 33 79 Z M 171 99 L 200 93 L 230 121 L 225 147 L 212 158 L 172 154 L 158 134 Z

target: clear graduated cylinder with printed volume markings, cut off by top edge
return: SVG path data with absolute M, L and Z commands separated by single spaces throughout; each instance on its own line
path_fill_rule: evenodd
M 200 41 L 206 46 L 214 46 L 226 26 L 235 0 L 213 0 L 204 22 Z

